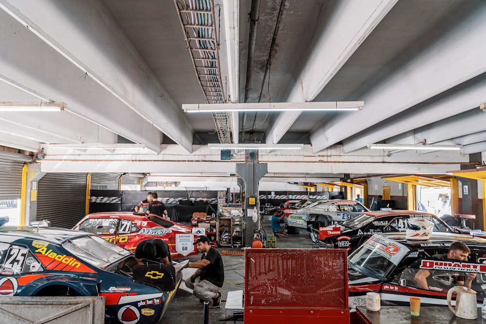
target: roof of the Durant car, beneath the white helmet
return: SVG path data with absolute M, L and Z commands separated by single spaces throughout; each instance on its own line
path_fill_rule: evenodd
M 469 248 L 474 246 L 486 248 L 486 239 L 473 237 L 470 235 L 462 235 L 462 234 L 455 234 L 455 233 L 447 233 L 447 232 L 433 232 L 429 240 L 411 240 L 406 239 L 406 233 L 382 233 L 376 234 L 375 237 L 383 237 L 385 239 L 391 239 L 397 241 L 410 249 L 417 249 L 420 247 L 421 249 L 434 249 L 437 246 L 434 243 L 452 243 L 453 241 L 461 241 L 465 243 Z M 427 243 L 430 243 L 428 245 Z

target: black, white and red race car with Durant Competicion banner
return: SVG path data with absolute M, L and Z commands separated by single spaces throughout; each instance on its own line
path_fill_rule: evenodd
M 467 261 L 435 257 L 447 254 L 452 241 L 469 247 Z M 468 272 L 476 273 L 471 289 L 477 292 L 477 303 L 482 304 L 485 296 L 486 239 L 436 232 L 429 240 L 407 240 L 405 233 L 378 234 L 349 255 L 347 264 L 351 308 L 365 306 L 370 291 L 380 294 L 382 306 L 408 306 L 410 297 L 419 297 L 422 306 L 445 306 L 448 290 L 458 286 L 454 277 Z M 413 271 L 419 269 L 431 271 L 429 290 L 419 288 L 414 279 Z

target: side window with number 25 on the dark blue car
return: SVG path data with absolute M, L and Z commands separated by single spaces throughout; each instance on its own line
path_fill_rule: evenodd
M 0 264 L 1 275 L 18 275 L 23 273 L 43 272 L 39 260 L 25 246 L 11 245 L 4 250 Z

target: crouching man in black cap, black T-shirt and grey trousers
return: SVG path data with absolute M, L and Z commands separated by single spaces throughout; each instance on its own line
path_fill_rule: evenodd
M 192 289 L 194 296 L 200 300 L 212 300 L 212 307 L 220 307 L 222 294 L 219 290 L 225 281 L 225 267 L 221 255 L 209 242 L 206 236 L 201 235 L 194 243 L 203 255 L 200 261 L 188 264 L 189 268 L 197 270 L 190 280 L 186 280 L 186 287 Z

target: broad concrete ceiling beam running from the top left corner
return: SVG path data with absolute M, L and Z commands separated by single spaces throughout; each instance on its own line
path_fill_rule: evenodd
M 118 106 L 129 107 L 191 152 L 192 127 L 181 107 L 176 106 L 101 2 L 1 0 L 0 7 L 113 94 Z

